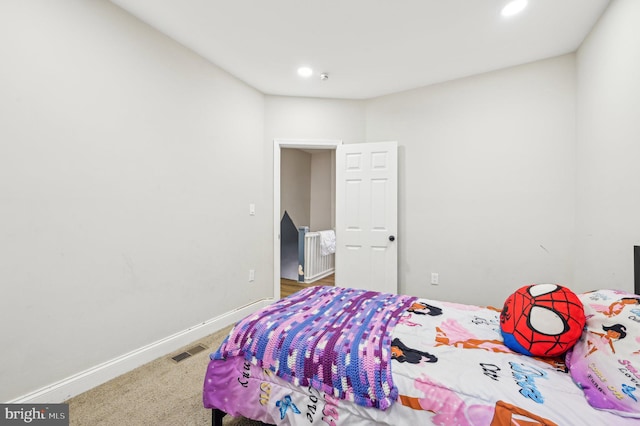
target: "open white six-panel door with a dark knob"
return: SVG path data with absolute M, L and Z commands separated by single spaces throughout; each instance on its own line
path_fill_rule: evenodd
M 398 292 L 398 144 L 336 150 L 336 285 Z

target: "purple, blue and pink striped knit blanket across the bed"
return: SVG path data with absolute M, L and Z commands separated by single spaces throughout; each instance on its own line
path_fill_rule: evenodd
M 415 299 L 310 287 L 240 321 L 211 359 L 243 356 L 295 385 L 385 410 L 398 397 L 391 330 Z

